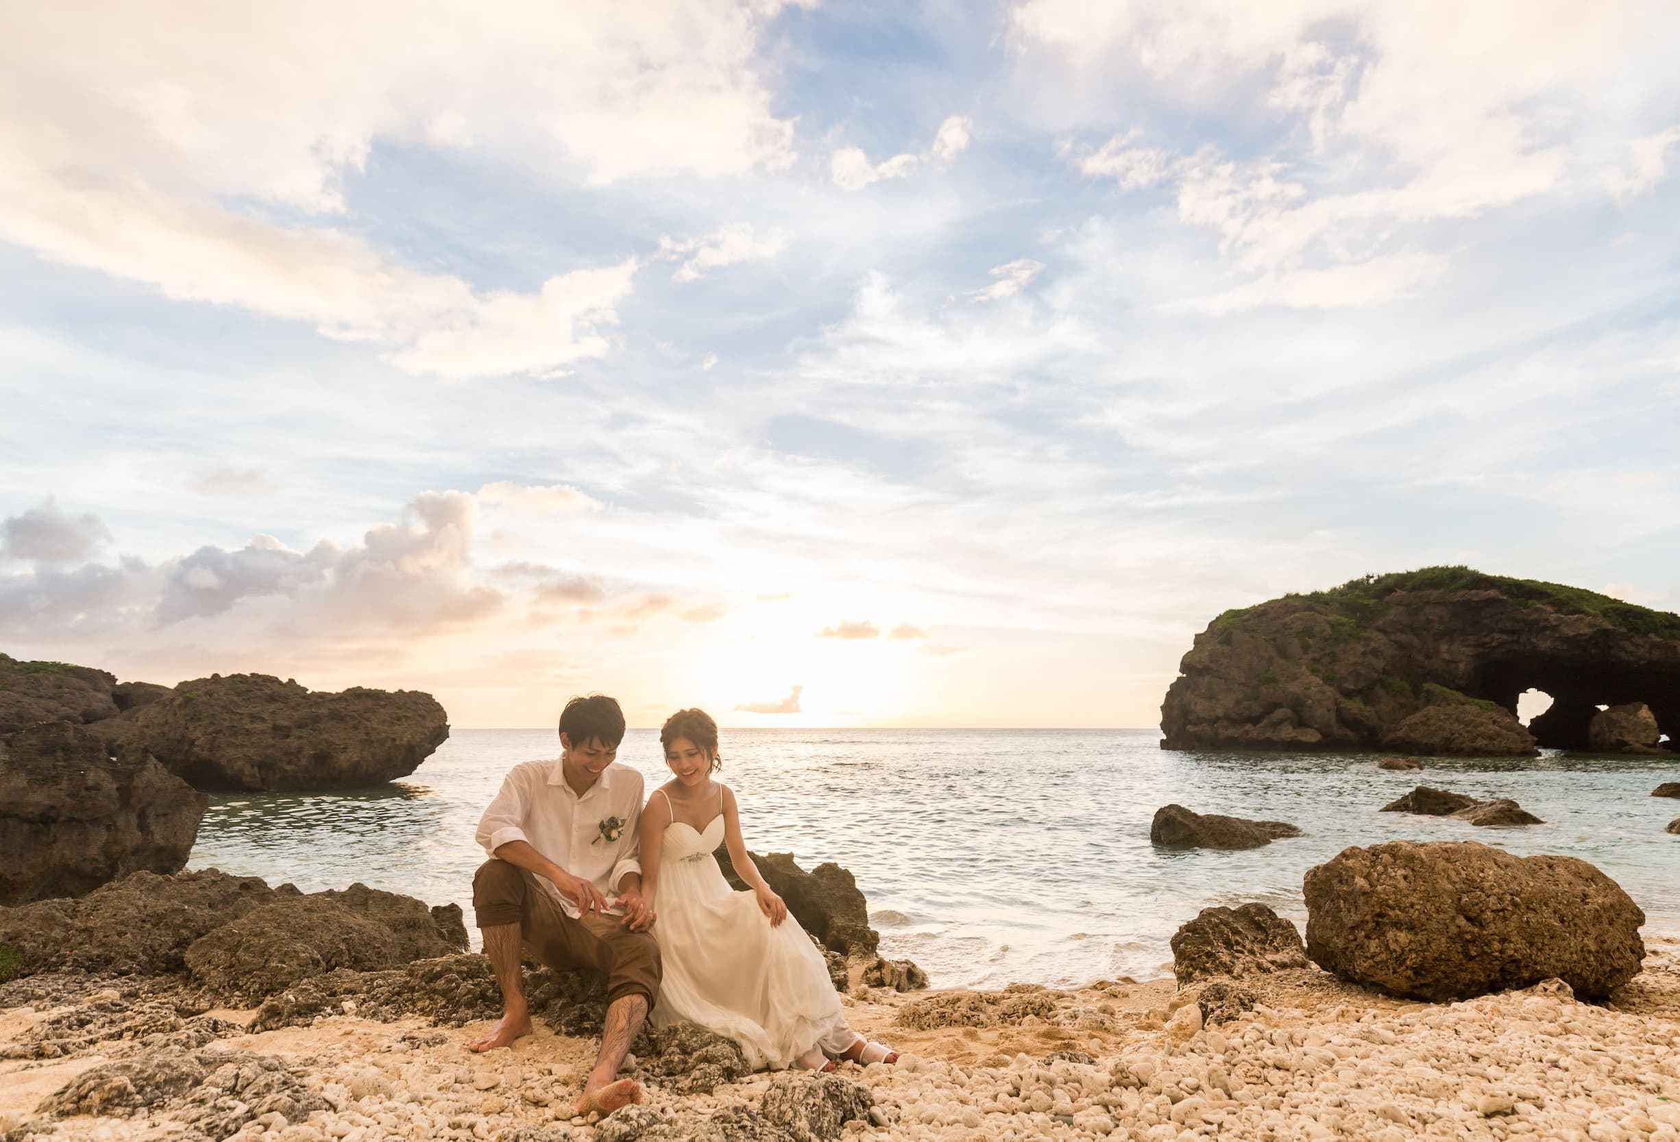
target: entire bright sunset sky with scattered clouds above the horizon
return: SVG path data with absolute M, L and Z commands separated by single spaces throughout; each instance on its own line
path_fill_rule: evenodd
M 0 650 L 457 727 L 1146 727 L 1680 606 L 1680 8 L 0 3 Z

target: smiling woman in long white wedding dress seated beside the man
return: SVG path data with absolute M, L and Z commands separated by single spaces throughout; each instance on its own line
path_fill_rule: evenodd
M 654 1026 L 692 1019 L 734 1040 L 751 1066 L 833 1070 L 833 1058 L 894 1063 L 897 1053 L 845 1024 L 822 952 L 783 904 L 741 840 L 734 793 L 712 781 L 717 722 L 677 710 L 659 732 L 672 779 L 642 809 L 642 893 L 659 914 L 665 966 Z M 736 892 L 712 850 L 751 887 Z

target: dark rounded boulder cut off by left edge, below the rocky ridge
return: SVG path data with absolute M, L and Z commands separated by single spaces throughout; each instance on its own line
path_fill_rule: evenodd
M 138 749 L 72 722 L 0 741 L 0 904 L 79 897 L 186 863 L 208 798 Z

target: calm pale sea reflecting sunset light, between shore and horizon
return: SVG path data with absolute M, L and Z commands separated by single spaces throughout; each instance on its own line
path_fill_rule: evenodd
M 1082 984 L 1171 971 L 1168 939 L 1215 904 L 1260 900 L 1305 924 L 1302 873 L 1347 845 L 1478 840 L 1519 855 L 1564 853 L 1613 877 L 1651 917 L 1680 929 L 1680 801 L 1651 798 L 1680 762 L 1554 754 L 1430 761 L 1421 779 L 1509 796 L 1547 821 L 1473 828 L 1378 813 L 1420 774 L 1369 756 L 1171 752 L 1156 731 L 729 731 L 722 779 L 749 848 L 833 860 L 869 897 L 887 956 L 934 986 Z M 553 757 L 553 731 L 455 731 L 412 778 L 381 789 L 215 794 L 192 867 L 299 888 L 361 880 L 472 924 L 472 833 L 502 774 Z M 664 781 L 654 731 L 620 761 Z M 1154 811 L 1292 821 L 1305 836 L 1242 853 L 1166 851 Z

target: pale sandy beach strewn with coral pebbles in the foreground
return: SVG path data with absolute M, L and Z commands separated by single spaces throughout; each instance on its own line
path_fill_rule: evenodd
M 385 1023 L 351 1003 L 304 1026 L 250 1033 L 255 1011 L 166 1018 L 168 986 L 156 981 L 34 977 L 3 996 L 12 1006 L 0 1014 L 0 1130 L 7 1142 L 800 1137 L 800 1124 L 774 1134 L 746 1113 L 786 1102 L 773 1092 L 791 1087 L 813 1107 L 833 1103 L 835 1092 L 842 1102 L 865 1095 L 852 1105 L 867 1110 L 843 1124 L 815 1113 L 806 1137 L 1680 1139 L 1680 940 L 1655 940 L 1645 971 L 1606 1004 L 1579 1003 L 1556 981 L 1452 1004 L 1374 996 L 1317 969 L 1243 986 L 1258 1006 L 1221 1023 L 1205 1021 L 1203 987 L 1169 981 L 857 989 L 847 998 L 853 1024 L 899 1046 L 900 1065 L 845 1065 L 843 1090 L 833 1078 L 756 1073 L 704 1092 L 685 1090 L 692 1075 L 659 1075 L 637 1060 L 648 1102 L 588 1122 L 571 1100 L 595 1043 L 541 1021 L 512 1050 L 479 1056 L 464 1045 L 484 1023 Z M 158 1026 L 150 1035 L 148 1019 Z M 210 1075 L 197 1095 L 129 1108 L 121 1103 L 133 1092 L 150 1097 L 141 1082 L 91 1082 L 109 1075 L 97 1068 L 171 1055 Z M 205 1097 L 218 1082 L 232 1090 L 240 1066 L 281 1077 L 267 1090 L 291 1092 L 292 1120 Z M 54 1097 L 77 1080 L 82 1105 L 109 1100 L 106 1113 L 54 1115 Z M 818 1090 L 825 1083 L 833 1090 Z M 234 1122 L 228 1134 L 217 1129 Z

